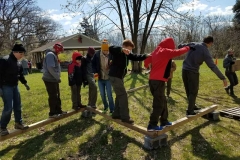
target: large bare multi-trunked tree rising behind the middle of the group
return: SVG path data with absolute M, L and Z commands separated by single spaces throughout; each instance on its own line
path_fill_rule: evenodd
M 65 8 L 69 12 L 82 11 L 89 17 L 98 11 L 102 20 L 105 21 L 105 26 L 120 31 L 123 39 L 132 39 L 136 45 L 133 52 L 137 53 L 139 51 L 142 54 L 145 52 L 148 38 L 157 18 L 177 16 L 178 13 L 174 9 L 174 4 L 180 2 L 180 0 L 97 0 L 94 2 L 97 3 L 94 4 L 88 0 L 68 0 Z M 86 8 L 89 10 L 86 11 Z M 113 32 L 116 32 L 115 29 Z M 109 32 L 106 34 L 109 34 Z M 141 69 L 141 63 L 134 63 L 133 72 L 141 72 Z

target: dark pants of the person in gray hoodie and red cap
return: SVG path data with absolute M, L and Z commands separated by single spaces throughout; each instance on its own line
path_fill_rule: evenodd
M 62 113 L 59 83 L 44 81 L 48 92 L 49 116 Z

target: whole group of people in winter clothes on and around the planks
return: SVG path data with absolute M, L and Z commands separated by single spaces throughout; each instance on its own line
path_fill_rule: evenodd
M 147 68 L 151 65 L 149 75 L 149 86 L 153 96 L 152 113 L 150 115 L 148 131 L 162 130 L 166 126 L 172 125 L 168 121 L 168 108 L 165 96 L 166 82 L 171 86 L 172 72 L 176 70 L 176 64 L 172 58 L 186 54 L 182 66 L 182 80 L 184 83 L 188 107 L 187 117 L 192 117 L 201 109 L 196 106 L 196 97 L 199 89 L 199 68 L 203 62 L 221 79 L 227 93 L 234 95 L 233 86 L 238 84 L 235 72 L 232 72 L 231 65 L 234 64 L 232 50 L 224 59 L 224 68 L 226 76 L 229 78 L 230 85 L 227 86 L 225 76 L 214 64 L 208 48 L 213 44 L 213 37 L 208 36 L 200 43 L 180 44 L 175 49 L 173 38 L 162 40 L 151 54 L 133 54 L 135 48 L 131 40 L 124 40 L 122 46 L 109 46 L 106 39 L 102 41 L 101 50 L 95 51 L 89 47 L 86 56 L 80 52 L 72 54 L 72 62 L 68 66 L 68 82 L 71 88 L 72 108 L 79 110 L 86 107 L 81 101 L 81 86 L 89 85 L 88 106 L 96 109 L 97 85 L 104 105 L 104 112 L 110 110 L 113 119 L 120 119 L 122 122 L 133 124 L 128 107 L 127 92 L 124 87 L 124 77 L 127 73 L 129 60 L 144 61 Z M 64 47 L 61 43 L 54 44 L 51 50 L 46 52 L 43 61 L 43 77 L 49 104 L 49 117 L 56 118 L 66 111 L 61 108 L 61 98 L 59 83 L 60 64 L 58 54 L 63 52 Z M 18 80 L 29 90 L 27 81 L 23 76 L 22 67 L 17 63 L 26 50 L 22 44 L 15 44 L 9 57 L 0 60 L 0 96 L 3 98 L 4 109 L 1 116 L 1 135 L 8 134 L 7 124 L 10 121 L 12 110 L 15 116 L 15 128 L 25 129 L 22 123 L 21 99 L 18 91 Z M 11 72 L 6 71 L 11 70 Z M 116 94 L 115 102 L 112 97 L 112 88 Z M 167 96 L 170 94 L 170 88 Z M 108 101 L 107 101 L 107 98 Z M 13 102 L 13 103 L 12 103 Z M 160 125 L 158 125 L 160 123 Z

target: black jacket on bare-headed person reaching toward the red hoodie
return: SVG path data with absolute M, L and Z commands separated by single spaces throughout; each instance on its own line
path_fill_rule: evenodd
M 111 65 L 109 70 L 109 76 L 117 77 L 123 79 L 127 74 L 127 66 L 129 60 L 132 61 L 143 61 L 147 58 L 146 54 L 133 54 L 130 53 L 126 55 L 122 51 L 122 47 L 119 46 L 110 46 L 109 52 L 111 54 Z

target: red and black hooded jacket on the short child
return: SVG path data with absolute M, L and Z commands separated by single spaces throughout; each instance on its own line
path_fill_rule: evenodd
M 82 64 L 76 62 L 77 57 L 82 55 L 78 52 L 74 52 L 72 55 L 72 63 L 68 65 L 68 84 L 69 86 L 77 85 L 80 86 L 86 81 L 86 72 Z

